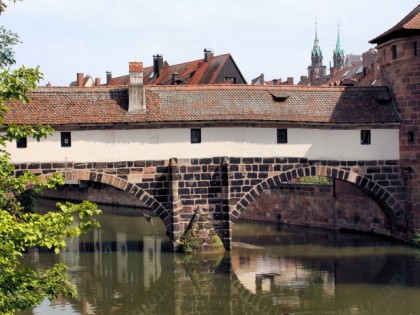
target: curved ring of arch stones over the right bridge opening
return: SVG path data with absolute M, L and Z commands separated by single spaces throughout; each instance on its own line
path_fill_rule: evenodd
M 379 205 L 389 222 L 398 225 L 397 222 L 402 218 L 404 207 L 393 197 L 387 188 L 355 172 L 329 166 L 301 167 L 298 169 L 284 171 L 267 178 L 261 183 L 255 185 L 253 189 L 246 193 L 236 203 L 233 210 L 236 210 L 239 214 L 241 214 L 248 205 L 260 195 L 261 192 L 280 186 L 281 184 L 285 184 L 295 178 L 305 176 L 326 176 L 356 186 Z M 232 216 L 232 221 L 236 222 L 238 218 L 239 216 Z

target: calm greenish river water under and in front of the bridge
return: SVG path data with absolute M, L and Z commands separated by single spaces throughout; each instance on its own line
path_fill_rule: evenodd
M 20 314 L 420 314 L 420 251 L 384 239 L 241 222 L 232 251 L 188 256 L 138 210 L 100 221 L 58 256 L 28 255 L 66 263 L 78 298 Z

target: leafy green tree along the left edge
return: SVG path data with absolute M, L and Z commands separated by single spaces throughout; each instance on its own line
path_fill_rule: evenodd
M 13 0 L 12 0 L 13 1 Z M 5 8 L 0 2 L 0 12 Z M 58 203 L 57 211 L 37 214 L 26 211 L 22 195 L 30 188 L 40 192 L 63 184 L 60 175 L 41 180 L 30 172 L 15 176 L 6 143 L 22 137 L 41 140 L 52 133 L 49 126 L 3 125 L 7 101 L 19 100 L 25 106 L 28 92 L 42 78 L 38 68 L 21 67 L 11 70 L 15 63 L 12 47 L 19 42 L 17 34 L 0 27 L 0 313 L 14 314 L 18 310 L 40 304 L 45 298 L 59 295 L 76 296 L 63 264 L 36 271 L 21 264 L 29 247 L 46 247 L 56 254 L 65 247 L 65 240 L 98 227 L 96 205 L 84 201 L 75 205 Z M 74 220 L 75 216 L 78 217 Z M 77 223 L 75 223 L 77 221 Z

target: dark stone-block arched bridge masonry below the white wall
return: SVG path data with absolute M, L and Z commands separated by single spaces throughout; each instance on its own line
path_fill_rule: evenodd
M 383 210 L 393 237 L 410 232 L 406 188 L 399 160 L 331 161 L 306 158 L 213 157 L 155 161 L 24 163 L 39 176 L 116 187 L 143 202 L 164 222 L 174 248 L 197 208 L 209 214 L 225 248 L 233 224 L 262 192 L 306 176 L 326 176 L 360 188 Z

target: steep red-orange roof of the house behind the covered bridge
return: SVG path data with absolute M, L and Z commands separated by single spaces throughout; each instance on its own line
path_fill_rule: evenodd
M 168 85 L 172 84 L 172 75 L 178 73 L 178 80 L 180 84 L 216 84 L 221 69 L 226 62 L 231 59 L 230 54 L 214 56 L 209 58 L 206 62 L 204 59 L 185 62 L 172 66 L 164 66 L 162 72 L 158 77 L 153 76 L 153 67 L 146 67 L 143 69 L 144 84 L 147 85 Z M 245 79 L 242 78 L 244 83 Z M 111 86 L 121 86 L 129 84 L 129 76 L 121 76 L 112 78 Z

